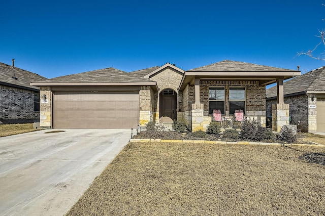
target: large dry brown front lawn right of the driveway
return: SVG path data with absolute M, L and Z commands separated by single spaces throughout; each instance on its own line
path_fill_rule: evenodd
M 129 143 L 67 215 L 324 215 L 325 148 Z

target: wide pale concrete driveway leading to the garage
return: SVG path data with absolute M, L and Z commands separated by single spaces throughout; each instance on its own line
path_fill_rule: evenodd
M 0 138 L 1 215 L 66 213 L 131 138 L 131 129 L 63 130 Z

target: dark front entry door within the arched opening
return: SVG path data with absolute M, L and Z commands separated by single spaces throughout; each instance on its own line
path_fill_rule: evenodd
M 171 92 L 172 91 L 172 92 Z M 165 94 L 164 94 L 165 93 Z M 169 94 L 169 95 L 168 95 Z M 177 95 L 173 90 L 164 90 L 160 93 L 160 118 L 164 122 L 172 122 L 177 117 Z

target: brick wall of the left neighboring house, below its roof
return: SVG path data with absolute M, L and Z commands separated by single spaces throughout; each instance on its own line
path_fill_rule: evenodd
M 40 112 L 34 111 L 34 93 L 30 90 L 0 85 L 0 121 L 3 123 L 39 122 Z

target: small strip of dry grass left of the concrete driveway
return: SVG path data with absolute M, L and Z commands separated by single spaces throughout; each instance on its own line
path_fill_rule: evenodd
M 32 123 L 27 124 L 1 124 L 0 125 L 0 137 L 7 137 L 10 135 L 23 134 L 33 131 L 39 131 L 40 129 L 34 129 Z

